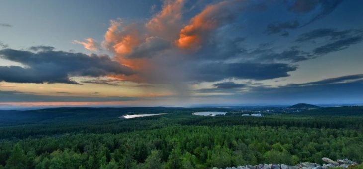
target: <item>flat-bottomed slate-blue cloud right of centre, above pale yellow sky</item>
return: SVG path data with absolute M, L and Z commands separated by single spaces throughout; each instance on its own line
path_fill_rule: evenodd
M 266 80 L 289 76 L 287 72 L 295 71 L 296 66 L 272 63 L 209 63 L 192 69 L 194 81 L 220 81 L 228 78 Z

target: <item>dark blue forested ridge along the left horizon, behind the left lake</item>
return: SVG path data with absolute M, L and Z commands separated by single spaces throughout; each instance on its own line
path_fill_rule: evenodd
M 39 110 L 0 110 L 0 126 L 54 122 L 102 122 L 117 119 L 125 114 L 191 113 L 193 111 L 229 111 L 224 108 L 180 108 L 180 107 L 123 107 L 90 108 L 63 107 Z

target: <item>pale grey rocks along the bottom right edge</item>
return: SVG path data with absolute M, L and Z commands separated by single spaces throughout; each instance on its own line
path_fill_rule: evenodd
M 225 169 L 328 169 L 332 167 L 340 167 L 340 168 L 348 168 L 351 165 L 357 165 L 357 162 L 348 160 L 348 159 L 338 159 L 334 161 L 327 157 L 322 158 L 322 160 L 327 163 L 323 164 L 323 166 L 317 163 L 310 162 L 302 162 L 295 166 L 289 166 L 285 164 L 259 164 L 256 166 L 246 165 L 246 166 L 238 166 L 238 167 L 227 167 Z M 218 168 L 213 168 L 218 169 Z

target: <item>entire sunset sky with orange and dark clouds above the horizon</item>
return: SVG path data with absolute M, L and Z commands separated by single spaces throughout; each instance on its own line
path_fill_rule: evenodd
M 0 108 L 363 103 L 362 0 L 1 0 Z

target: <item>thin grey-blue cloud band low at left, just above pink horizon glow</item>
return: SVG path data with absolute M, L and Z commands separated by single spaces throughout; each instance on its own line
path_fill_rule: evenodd
M 135 101 L 136 97 L 78 97 L 46 96 L 17 91 L 0 91 L 0 102 L 98 102 L 98 101 Z

